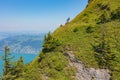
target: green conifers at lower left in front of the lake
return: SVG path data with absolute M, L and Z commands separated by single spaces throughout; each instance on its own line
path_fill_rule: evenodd
M 3 75 L 1 74 L 2 80 L 15 80 L 23 75 L 24 61 L 23 58 L 16 62 L 12 62 L 13 56 L 10 56 L 10 48 L 5 47 L 5 54 L 3 55 L 4 69 Z

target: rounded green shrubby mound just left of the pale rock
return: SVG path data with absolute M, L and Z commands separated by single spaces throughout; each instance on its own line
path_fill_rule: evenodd
M 67 58 L 60 52 L 47 53 L 39 62 L 40 71 L 50 80 L 73 80 L 70 76 L 74 76 L 75 71 L 68 65 Z

